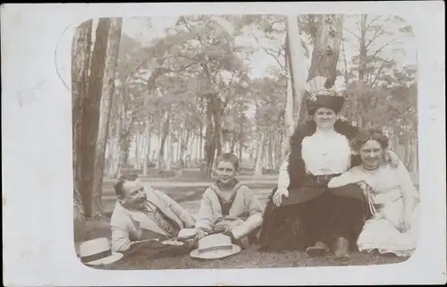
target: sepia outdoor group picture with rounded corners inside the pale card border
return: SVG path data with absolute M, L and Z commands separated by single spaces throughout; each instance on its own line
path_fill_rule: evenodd
M 95 18 L 71 61 L 84 265 L 374 266 L 417 249 L 417 45 L 401 17 Z

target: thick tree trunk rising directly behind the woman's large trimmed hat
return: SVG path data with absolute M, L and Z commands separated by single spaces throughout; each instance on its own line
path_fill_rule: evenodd
M 320 24 L 316 28 L 316 38 L 312 51 L 308 80 L 312 80 L 316 76 L 323 76 L 335 80 L 337 77 L 337 63 L 342 38 L 343 16 L 340 14 L 323 14 L 318 15 L 318 17 Z M 295 64 L 294 62 L 292 63 L 293 65 Z M 303 98 L 303 100 L 305 99 Z M 305 105 L 301 105 L 298 124 L 300 125 L 306 122 L 307 118 L 308 110 Z

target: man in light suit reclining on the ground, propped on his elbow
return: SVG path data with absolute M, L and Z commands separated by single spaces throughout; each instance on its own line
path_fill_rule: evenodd
M 145 254 L 159 256 L 163 244 L 154 245 L 156 241 L 173 239 L 181 229 L 194 228 L 195 219 L 187 210 L 163 192 L 139 181 L 137 175 L 123 175 L 114 190 L 118 197 L 110 221 L 114 251 L 130 253 L 143 249 Z M 191 244 L 186 244 L 185 252 Z

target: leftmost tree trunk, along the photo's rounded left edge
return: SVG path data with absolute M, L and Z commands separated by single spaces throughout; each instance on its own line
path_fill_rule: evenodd
M 78 241 L 84 230 L 84 206 L 82 200 L 82 123 L 83 105 L 87 97 L 89 82 L 89 58 L 92 20 L 85 21 L 76 28 L 72 41 L 72 156 L 73 156 L 73 215 L 74 240 Z M 85 124 L 85 122 L 84 122 Z

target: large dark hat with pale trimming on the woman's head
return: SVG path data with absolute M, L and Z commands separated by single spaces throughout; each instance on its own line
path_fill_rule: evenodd
M 333 80 L 317 76 L 307 83 L 308 98 L 306 106 L 309 112 L 315 112 L 320 107 L 327 107 L 340 113 L 344 104 L 344 97 L 333 89 Z

